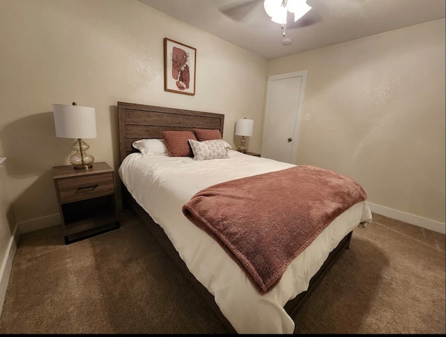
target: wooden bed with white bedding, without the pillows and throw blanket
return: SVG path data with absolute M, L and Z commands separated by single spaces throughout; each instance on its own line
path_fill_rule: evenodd
M 231 149 L 228 159 L 194 161 L 143 155 L 132 146 L 140 139 L 161 139 L 164 131 L 199 128 L 223 134 L 224 114 L 220 113 L 118 102 L 118 125 L 123 205 L 146 224 L 229 331 L 293 333 L 291 317 L 348 249 L 353 229 L 371 221 L 367 202 L 355 203 L 331 221 L 289 263 L 277 284 L 262 294 L 222 246 L 185 217 L 183 206 L 199 191 L 220 182 L 295 169 L 295 165 Z

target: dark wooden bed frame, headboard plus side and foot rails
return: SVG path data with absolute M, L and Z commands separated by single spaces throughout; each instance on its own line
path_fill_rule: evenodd
M 132 152 L 138 152 L 132 147 L 132 143 L 138 139 L 162 138 L 161 132 L 168 130 L 190 130 L 192 128 L 199 129 L 219 129 L 223 134 L 224 114 L 210 113 L 203 111 L 192 111 L 185 109 L 173 109 L 167 107 L 154 107 L 151 105 L 133 104 L 126 102 L 118 102 L 118 124 L 119 124 L 119 155 L 120 161 Z M 197 289 L 197 292 L 203 297 L 210 308 L 215 311 L 220 320 L 225 324 L 229 331 L 236 334 L 231 323 L 224 317 L 220 308 L 215 303 L 214 297 L 201 284 L 192 273 L 187 269 L 185 262 L 181 260 L 178 252 L 171 244 L 164 230 L 153 221 L 151 216 L 134 201 L 125 185 L 122 186 L 123 207 L 130 207 L 137 216 L 144 222 L 153 236 L 160 242 L 164 250 L 176 262 L 176 265 L 184 272 L 185 276 Z M 292 317 L 297 313 L 304 303 L 305 299 L 314 291 L 316 285 L 321 281 L 323 276 L 328 272 L 330 267 L 339 258 L 344 249 L 348 249 L 351 242 L 352 233 L 348 233 L 338 246 L 330 253 L 323 266 L 313 276 L 309 283 L 309 288 L 305 292 L 301 292 L 294 299 L 288 301 L 284 308 Z

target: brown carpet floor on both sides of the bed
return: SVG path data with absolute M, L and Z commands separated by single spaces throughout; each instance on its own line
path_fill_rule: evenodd
M 374 214 L 294 317 L 298 334 L 445 334 L 445 235 Z M 1 334 L 220 334 L 224 325 L 132 213 L 65 245 L 22 235 Z

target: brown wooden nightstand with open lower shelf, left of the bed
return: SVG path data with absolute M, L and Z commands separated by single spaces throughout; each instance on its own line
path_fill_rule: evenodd
M 88 170 L 54 166 L 53 180 L 66 244 L 119 228 L 114 170 L 107 163 Z

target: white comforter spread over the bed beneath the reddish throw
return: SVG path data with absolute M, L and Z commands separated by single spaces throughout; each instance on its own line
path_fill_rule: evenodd
M 229 150 L 229 159 L 194 161 L 190 157 L 128 155 L 118 173 L 130 194 L 171 240 L 198 281 L 215 297 L 239 334 L 292 334 L 294 322 L 284 305 L 307 290 L 309 281 L 342 238 L 371 220 L 367 202 L 353 205 L 323 230 L 291 262 L 281 281 L 260 295 L 242 269 L 212 237 L 192 224 L 183 205 L 206 187 L 226 180 L 295 166 Z

